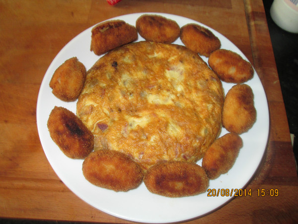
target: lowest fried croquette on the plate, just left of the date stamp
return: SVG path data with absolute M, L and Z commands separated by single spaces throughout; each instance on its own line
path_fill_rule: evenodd
M 151 166 L 144 176 L 144 183 L 151 193 L 165 197 L 185 197 L 205 192 L 209 180 L 201 166 L 172 161 Z

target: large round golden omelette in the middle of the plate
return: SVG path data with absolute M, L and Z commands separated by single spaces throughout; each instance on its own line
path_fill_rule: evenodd
M 123 152 L 146 170 L 202 158 L 220 133 L 223 103 L 221 81 L 198 54 L 141 41 L 92 66 L 76 114 L 94 134 L 94 150 Z

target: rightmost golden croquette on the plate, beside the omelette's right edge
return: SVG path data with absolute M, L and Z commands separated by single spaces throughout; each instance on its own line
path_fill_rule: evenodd
M 223 126 L 229 132 L 241 134 L 256 121 L 254 96 L 250 86 L 237 84 L 226 94 L 223 107 Z

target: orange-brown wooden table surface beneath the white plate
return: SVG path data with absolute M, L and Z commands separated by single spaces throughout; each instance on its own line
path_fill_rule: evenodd
M 36 103 L 57 53 L 86 28 L 118 15 L 165 12 L 202 22 L 231 40 L 264 86 L 270 136 L 247 189 L 278 197 L 237 197 L 188 223 L 298 222 L 298 178 L 262 0 L 0 0 L 0 217 L 131 223 L 89 206 L 58 178 L 42 149 Z

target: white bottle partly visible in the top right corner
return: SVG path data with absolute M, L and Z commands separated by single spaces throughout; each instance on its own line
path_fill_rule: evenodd
M 298 0 L 274 0 L 270 15 L 282 29 L 298 33 Z

